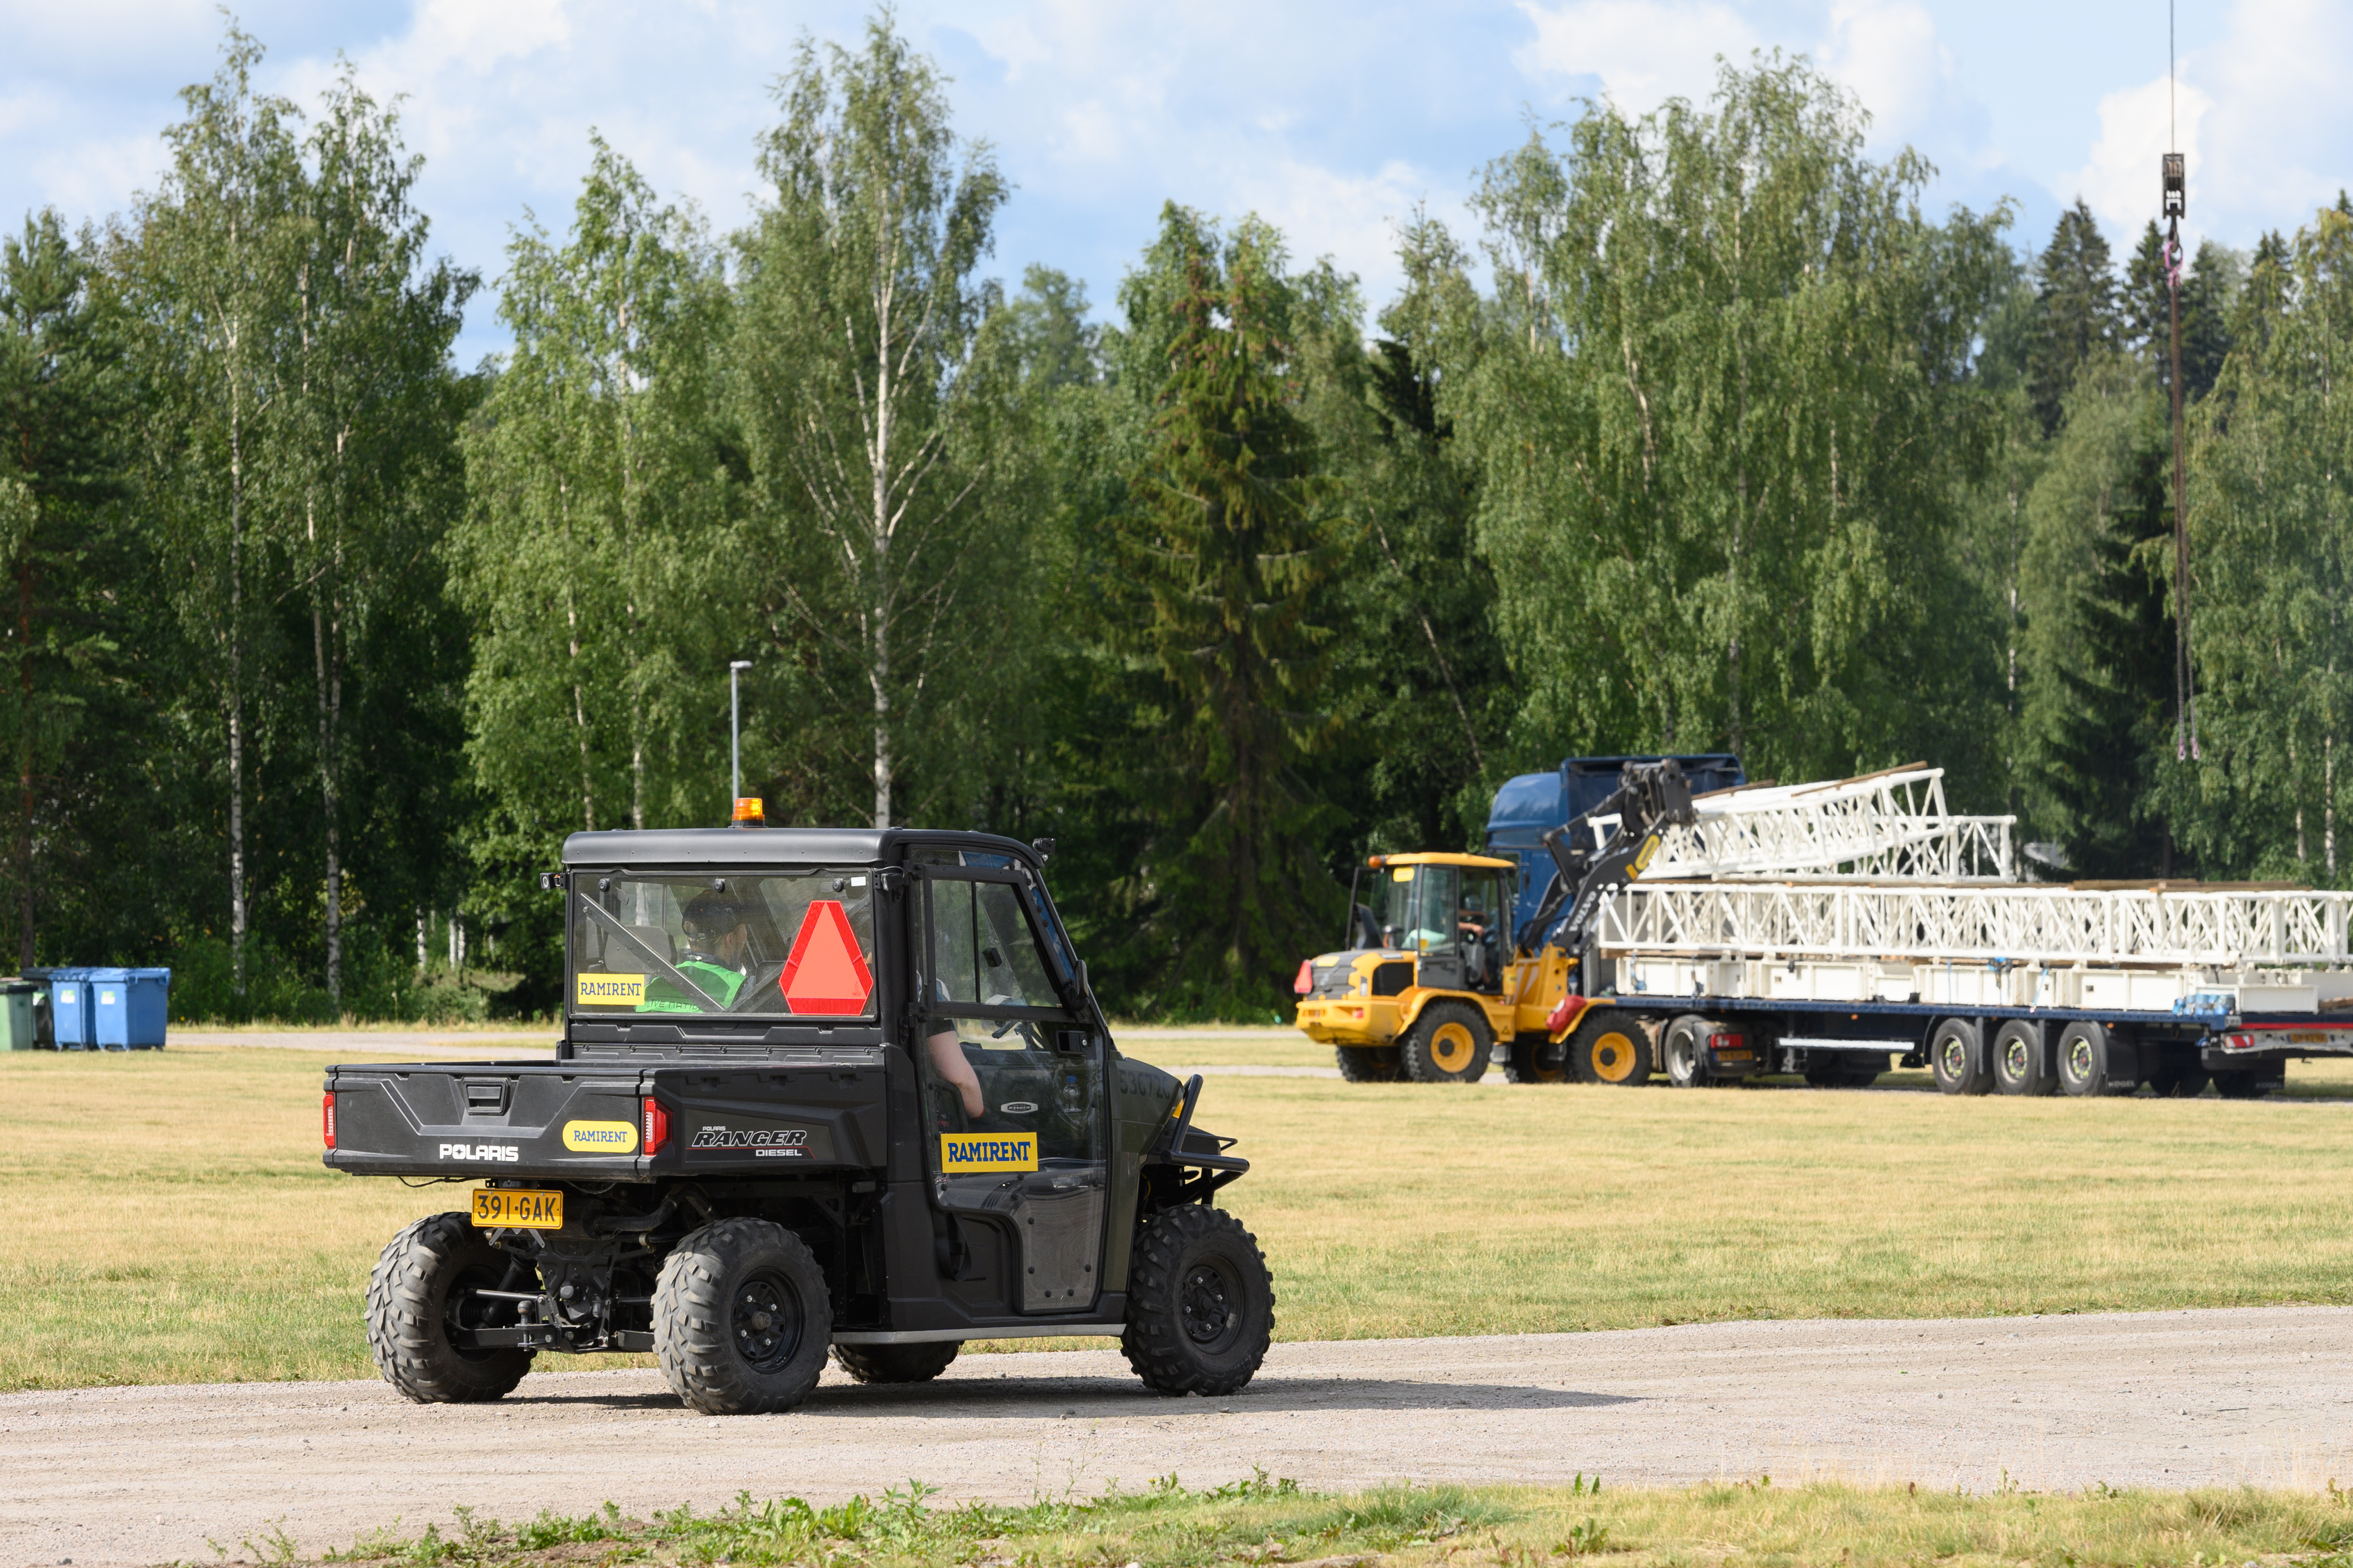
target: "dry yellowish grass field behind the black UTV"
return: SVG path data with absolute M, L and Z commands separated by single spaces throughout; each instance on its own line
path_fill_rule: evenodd
M 1172 1065 L 1209 1048 L 1136 1041 Z M 384 1241 L 459 1206 L 318 1164 L 313 1051 L 0 1058 L 0 1387 L 367 1375 Z M 2353 1300 L 2353 1103 L 1212 1077 L 1280 1338 Z

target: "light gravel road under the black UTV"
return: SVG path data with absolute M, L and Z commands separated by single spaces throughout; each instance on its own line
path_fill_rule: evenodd
M 1922 1486 L 2320 1488 L 2353 1479 L 2353 1309 L 1692 1324 L 1278 1345 L 1233 1399 L 1155 1399 L 1115 1349 L 967 1354 L 932 1385 L 828 1368 L 791 1415 L 689 1415 L 659 1373 L 548 1373 L 494 1406 L 381 1382 L 0 1396 L 0 1563 L 252 1561 L 504 1519 L 835 1500 L 920 1476 L 955 1497 L 1118 1476 L 1617 1486 L 1817 1474 Z

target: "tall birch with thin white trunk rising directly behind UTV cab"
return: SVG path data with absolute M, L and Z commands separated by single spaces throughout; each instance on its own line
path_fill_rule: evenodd
M 972 628 L 960 595 L 995 458 L 972 440 L 991 418 L 974 270 L 1007 186 L 951 129 L 944 87 L 887 14 L 856 54 L 805 40 L 760 146 L 769 200 L 736 242 L 744 421 L 788 562 L 769 644 L 854 672 L 875 827 L 927 677 Z

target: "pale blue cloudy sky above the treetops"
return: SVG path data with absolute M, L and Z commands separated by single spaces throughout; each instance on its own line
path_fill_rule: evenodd
M 2249 244 L 2353 186 L 2353 5 L 2177 0 L 2191 219 Z M 560 226 L 602 134 L 727 230 L 755 193 L 753 139 L 795 40 L 854 42 L 856 0 L 245 0 L 264 87 L 315 101 L 348 54 L 405 94 L 438 247 L 496 277 L 513 223 Z M 1873 113 L 1873 143 L 1939 167 L 1932 197 L 2012 197 L 2040 247 L 2082 195 L 2129 242 L 2167 146 L 2162 0 L 906 0 L 901 28 L 955 78 L 1014 200 L 993 270 L 1031 261 L 1108 303 L 1162 200 L 1278 221 L 1379 306 L 1393 223 L 1459 216 L 1475 172 L 1532 120 L 1612 96 L 1704 96 L 1718 54 L 1805 52 Z M 0 223 L 54 205 L 120 212 L 162 167 L 176 89 L 209 78 L 209 0 L 0 0 Z M 499 348 L 478 308 L 461 343 Z

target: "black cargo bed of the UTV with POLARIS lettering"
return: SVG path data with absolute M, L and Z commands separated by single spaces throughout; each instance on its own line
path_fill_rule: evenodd
M 365 1175 L 791 1175 L 882 1166 L 882 1053 L 809 1065 L 329 1067 L 325 1164 Z

